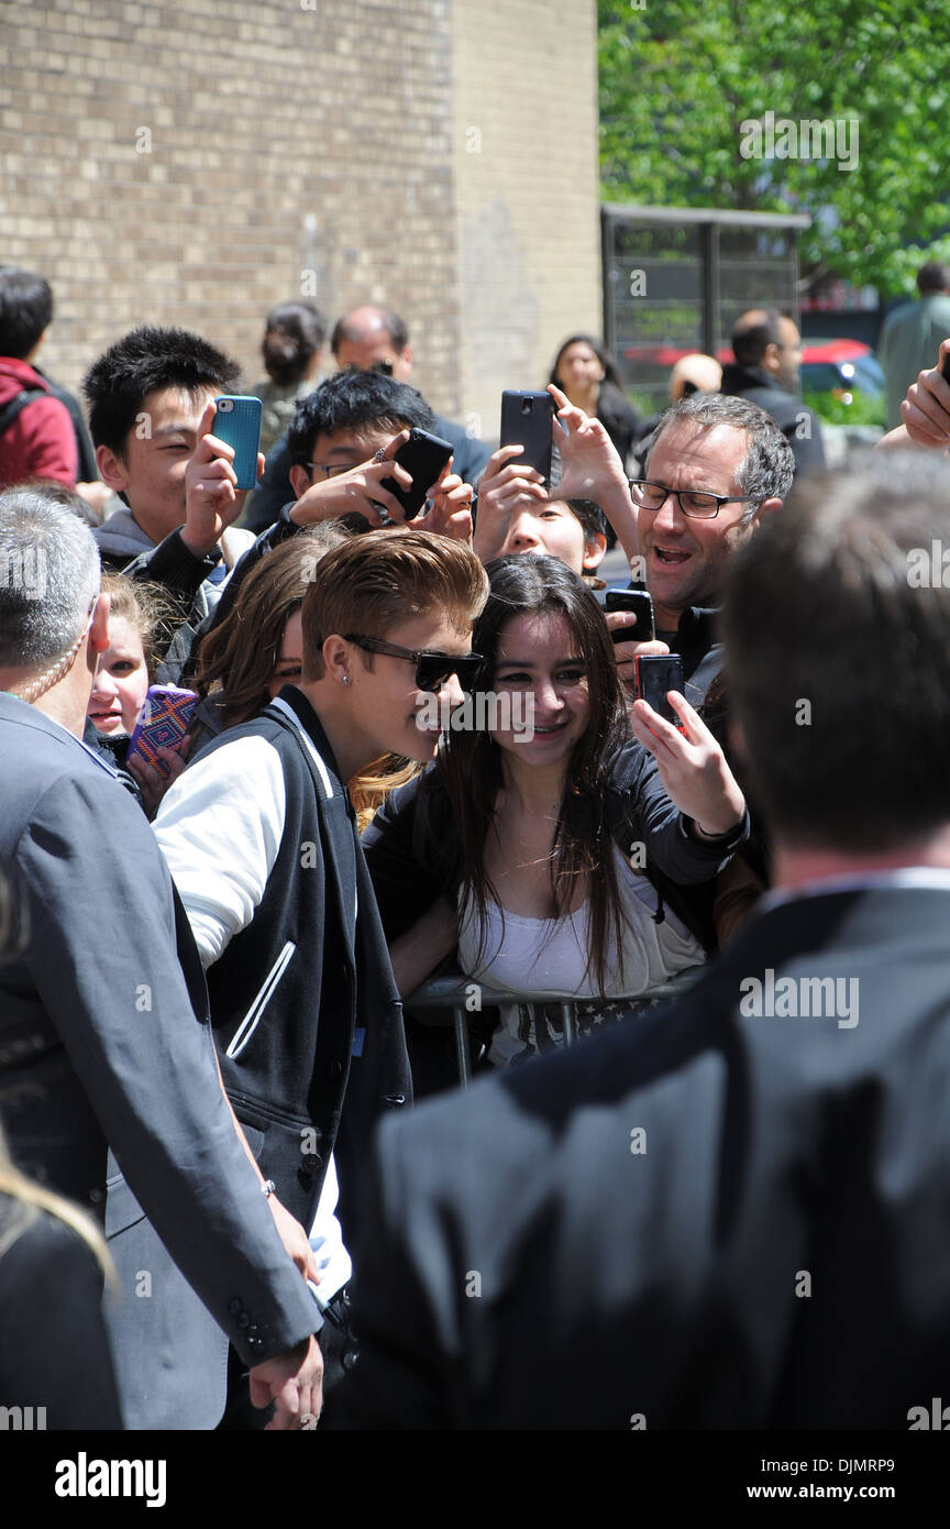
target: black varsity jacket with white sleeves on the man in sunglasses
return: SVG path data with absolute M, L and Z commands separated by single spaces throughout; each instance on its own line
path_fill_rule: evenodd
M 174 783 L 154 829 L 260 1168 L 309 1226 L 342 1119 L 347 1228 L 354 1159 L 376 1118 L 409 1101 L 409 1063 L 356 818 L 305 696 L 286 685 L 223 732 Z

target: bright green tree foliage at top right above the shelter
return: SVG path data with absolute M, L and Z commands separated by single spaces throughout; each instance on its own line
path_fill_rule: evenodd
M 907 289 L 924 257 L 906 246 L 950 229 L 950 9 L 599 0 L 599 18 L 605 200 L 809 213 L 803 269 Z M 768 112 L 857 119 L 855 168 L 742 157 Z

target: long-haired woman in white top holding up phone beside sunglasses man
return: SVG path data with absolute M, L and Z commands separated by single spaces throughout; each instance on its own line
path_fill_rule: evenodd
M 683 887 L 732 856 L 742 794 L 681 697 L 683 732 L 646 702 L 628 725 L 603 615 L 576 573 L 507 557 L 489 576 L 472 645 L 495 725 L 449 726 L 437 763 L 364 835 L 397 983 L 411 992 L 458 945 L 466 974 L 493 988 L 645 992 L 712 943 Z M 528 1011 L 506 1011 L 490 1060 L 544 1040 Z

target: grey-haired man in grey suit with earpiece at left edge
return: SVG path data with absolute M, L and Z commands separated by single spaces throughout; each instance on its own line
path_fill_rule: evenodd
M 276 1404 L 270 1427 L 296 1427 L 321 1407 L 319 1315 L 283 1245 L 304 1264 L 305 1237 L 286 1212 L 278 1234 L 237 1133 L 148 823 L 79 742 L 107 622 L 89 529 L 46 489 L 0 495 L 0 868 L 18 934 L 0 966 L 3 1127 L 21 1167 L 96 1208 L 115 1154 L 107 1229 L 136 1271 L 116 1372 L 121 1388 L 153 1372 L 153 1423 L 208 1427 L 223 1393 L 176 1301 L 180 1271 L 255 1405 Z

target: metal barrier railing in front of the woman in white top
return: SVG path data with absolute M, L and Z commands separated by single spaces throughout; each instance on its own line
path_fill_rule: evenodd
M 501 1008 L 502 1005 L 524 1005 L 528 1009 L 535 1006 L 550 1005 L 561 1011 L 561 1021 L 564 1026 L 564 1044 L 573 1046 L 577 1034 L 577 1006 L 609 1001 L 611 1006 L 625 1011 L 625 1018 L 628 1014 L 645 1012 L 646 1009 L 657 1008 L 658 1003 L 664 1003 L 686 992 L 692 988 L 695 982 L 703 976 L 704 966 L 689 966 L 686 971 L 678 972 L 670 977 L 669 982 L 660 983 L 655 988 L 648 988 L 646 992 L 635 994 L 609 994 L 609 998 L 599 1000 L 597 994 L 579 994 L 579 992 L 509 992 L 501 988 L 489 988 L 486 983 L 477 982 L 472 977 L 464 977 L 461 972 L 449 972 L 443 977 L 429 977 L 422 986 L 411 992 L 408 998 L 403 1000 L 403 1008 L 409 1009 L 423 1024 L 440 1026 L 446 1021 L 437 1018 L 437 1011 L 449 1009 L 452 1014 L 452 1029 L 455 1032 L 455 1060 L 458 1064 L 458 1081 L 463 1089 L 472 1081 L 472 1047 L 469 1043 L 469 1015 L 472 1012 L 480 1012 L 481 1009 Z M 478 1008 L 472 1009 L 472 995 L 478 995 Z

